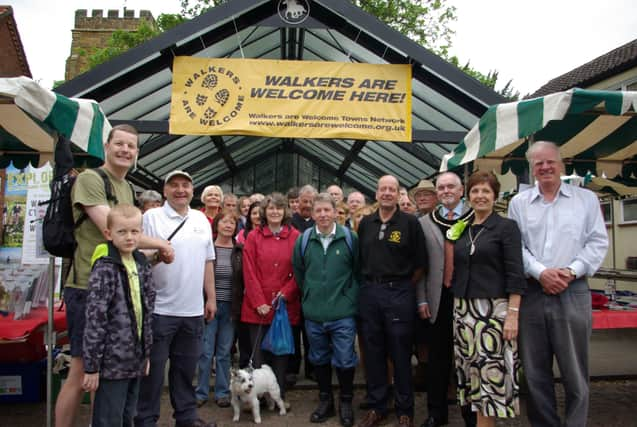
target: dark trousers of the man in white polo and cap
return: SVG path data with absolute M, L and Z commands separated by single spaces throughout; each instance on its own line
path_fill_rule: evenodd
M 177 424 L 194 422 L 197 399 L 192 378 L 201 354 L 203 316 L 178 317 L 153 314 L 153 346 L 150 352 L 150 374 L 142 377 L 137 401 L 135 426 L 155 427 L 159 420 L 161 394 L 164 389 L 166 361 L 168 391 Z

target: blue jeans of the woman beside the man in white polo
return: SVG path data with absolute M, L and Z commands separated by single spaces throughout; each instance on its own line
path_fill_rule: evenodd
M 217 314 L 204 329 L 203 348 L 197 364 L 197 400 L 208 400 L 213 356 L 216 359 L 215 399 L 230 396 L 230 351 L 234 340 L 231 309 L 232 303 L 217 301 Z

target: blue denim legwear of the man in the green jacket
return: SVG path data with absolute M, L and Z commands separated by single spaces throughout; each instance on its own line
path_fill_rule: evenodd
M 353 368 L 358 363 L 354 350 L 356 321 L 353 317 L 330 322 L 305 319 L 305 330 L 310 343 L 309 359 L 313 365 L 332 364 L 336 368 Z

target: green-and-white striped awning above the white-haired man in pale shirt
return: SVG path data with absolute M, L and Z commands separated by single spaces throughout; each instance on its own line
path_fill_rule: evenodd
M 491 106 L 440 171 L 475 161 L 474 169 L 516 175 L 531 141 L 560 146 L 567 173 L 614 178 L 637 172 L 637 92 L 571 89 Z

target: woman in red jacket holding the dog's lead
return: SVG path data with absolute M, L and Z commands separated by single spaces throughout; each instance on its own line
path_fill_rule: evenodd
M 299 323 L 301 301 L 292 272 L 292 253 L 299 232 L 289 224 L 290 211 L 282 194 L 267 196 L 261 209 L 263 224 L 248 234 L 243 248 L 245 296 L 241 321 L 248 324 L 250 330 L 254 367 L 259 368 L 263 362 L 272 367 L 284 398 L 289 356 L 262 351 L 261 340 L 272 323 L 272 302 L 277 296 L 285 299 L 290 324 Z

